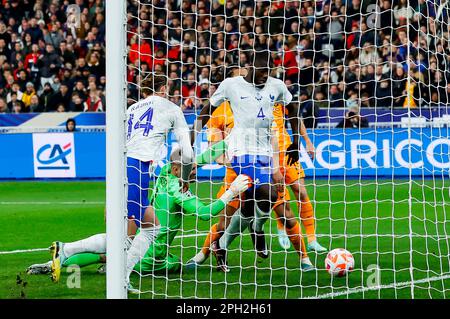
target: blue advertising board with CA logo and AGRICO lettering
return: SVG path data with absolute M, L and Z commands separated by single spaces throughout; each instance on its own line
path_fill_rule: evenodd
M 414 176 L 450 173 L 448 126 L 315 129 L 309 134 L 316 158 L 311 160 L 304 150 L 300 157 L 309 178 L 401 178 L 410 175 L 410 165 Z M 206 149 L 206 134 L 196 143 L 198 151 Z M 0 147 L 1 179 L 105 177 L 104 132 L 0 134 Z M 223 166 L 211 164 L 199 169 L 198 177 L 221 179 L 224 172 Z

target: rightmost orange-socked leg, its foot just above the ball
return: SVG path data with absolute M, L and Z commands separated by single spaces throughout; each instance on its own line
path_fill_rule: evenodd
M 308 196 L 308 191 L 305 187 L 305 179 L 300 178 L 298 181 L 290 185 L 294 192 L 295 198 L 298 201 L 298 208 L 300 212 L 300 219 L 305 227 L 306 236 L 308 239 L 308 250 L 316 252 L 325 252 L 327 249 L 322 247 L 317 241 L 315 229 L 314 209 Z

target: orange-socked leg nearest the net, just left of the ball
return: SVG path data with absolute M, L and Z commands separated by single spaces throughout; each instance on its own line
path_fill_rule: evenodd
M 284 202 L 281 205 L 277 205 L 274 208 L 274 211 L 278 220 L 284 225 L 288 238 L 300 257 L 300 266 L 302 270 L 309 271 L 314 269 L 306 251 L 300 224 L 295 218 L 289 203 Z

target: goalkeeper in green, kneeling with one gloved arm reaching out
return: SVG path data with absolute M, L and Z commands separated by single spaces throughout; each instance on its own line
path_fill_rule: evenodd
M 215 147 L 217 149 L 217 146 Z M 197 157 L 199 165 L 211 162 L 215 159 L 209 157 L 214 150 L 206 150 Z M 222 154 L 223 151 L 218 151 Z M 195 169 L 191 173 L 191 180 Z M 152 196 L 155 213 L 160 221 L 161 230 L 149 247 L 143 259 L 136 264 L 134 269 L 138 272 L 178 272 L 180 270 L 180 259 L 169 252 L 178 230 L 180 229 L 183 215 L 196 214 L 201 220 L 209 220 L 219 214 L 226 205 L 237 195 L 246 191 L 250 180 L 245 175 L 239 175 L 231 184 L 230 189 L 218 200 L 209 205 L 203 204 L 200 199 L 189 191 L 189 185 L 180 185 L 181 177 L 181 152 L 179 148 L 172 151 L 170 162 L 162 167 L 161 173 L 156 181 L 155 192 Z M 55 245 L 52 245 L 55 246 Z M 52 263 L 68 267 L 78 265 L 80 267 L 104 263 L 106 261 L 106 234 L 97 234 L 73 243 L 59 243 L 57 261 L 49 261 L 44 264 L 34 264 L 28 267 L 28 274 L 45 274 L 51 271 Z M 55 256 L 55 254 L 54 254 Z M 60 267 L 57 267 L 54 281 L 59 281 Z

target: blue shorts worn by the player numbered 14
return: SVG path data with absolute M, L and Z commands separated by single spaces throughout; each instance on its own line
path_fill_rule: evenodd
M 150 205 L 148 190 L 150 186 L 150 162 L 142 162 L 127 157 L 128 218 L 134 219 L 139 227 L 144 217 L 145 209 Z

